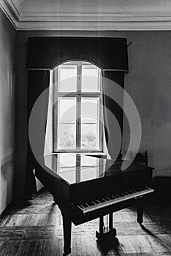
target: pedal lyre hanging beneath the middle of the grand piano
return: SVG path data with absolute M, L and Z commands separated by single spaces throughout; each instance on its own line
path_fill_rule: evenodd
M 108 223 L 107 223 L 108 225 Z M 99 243 L 102 241 L 110 241 L 116 236 L 116 229 L 113 227 L 113 214 L 109 214 L 109 226 L 104 227 L 103 217 L 99 218 L 99 232 L 96 231 L 96 238 Z

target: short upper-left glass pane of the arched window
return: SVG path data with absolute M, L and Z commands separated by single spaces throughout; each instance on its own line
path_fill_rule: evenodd
M 77 91 L 77 65 L 66 65 L 58 67 L 59 92 Z

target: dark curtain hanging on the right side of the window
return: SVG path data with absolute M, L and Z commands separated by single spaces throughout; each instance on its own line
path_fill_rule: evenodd
M 107 150 L 112 159 L 120 159 L 123 134 L 122 89 L 124 87 L 124 73 L 115 70 L 104 70 L 102 72 L 102 76 L 104 134 L 107 143 Z M 121 90 L 119 88 L 121 88 Z M 120 104 L 118 104 L 115 99 L 117 99 Z

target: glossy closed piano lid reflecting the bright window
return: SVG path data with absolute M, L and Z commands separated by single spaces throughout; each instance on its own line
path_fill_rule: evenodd
M 140 170 L 140 164 L 130 165 L 126 170 L 121 170 L 121 160 L 88 157 L 75 153 L 58 153 L 40 157 L 38 162 L 42 167 L 50 169 L 54 176 L 58 175 L 69 184 L 89 181 L 104 176 L 113 176 L 130 170 Z

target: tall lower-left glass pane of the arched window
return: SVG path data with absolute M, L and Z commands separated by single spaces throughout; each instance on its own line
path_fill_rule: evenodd
M 58 98 L 58 149 L 76 148 L 76 97 Z

